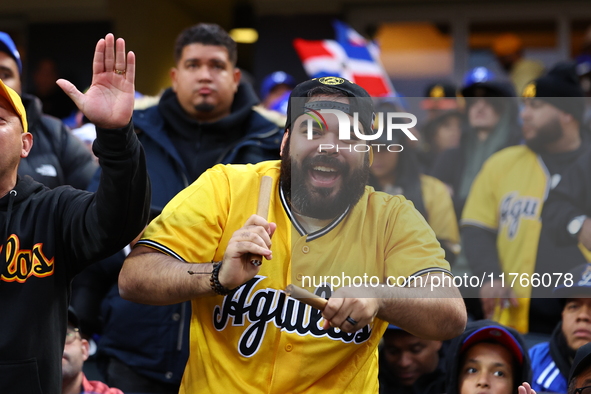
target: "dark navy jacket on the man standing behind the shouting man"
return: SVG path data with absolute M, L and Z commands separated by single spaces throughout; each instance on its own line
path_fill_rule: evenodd
M 159 105 L 133 114 L 138 139 L 146 153 L 152 182 L 151 207 L 152 212 L 156 213 L 192 181 L 167 132 L 171 123 L 178 125 L 179 122 L 175 122 L 177 119 L 167 121 L 160 110 L 163 100 L 169 100 L 169 104 L 174 100 L 174 105 L 178 106 L 173 95 L 169 89 Z M 234 97 L 232 113 L 227 117 L 214 123 L 185 119 L 186 123 L 190 122 L 205 133 L 224 135 L 232 132 L 236 135 L 236 128 L 244 131 L 237 140 L 222 139 L 221 143 L 227 148 L 223 149 L 223 154 L 211 166 L 279 158 L 283 128 L 253 110 L 252 106 L 256 102 L 253 89 L 241 84 Z M 180 109 L 177 107 L 176 111 L 180 112 Z M 97 173 L 92 184 L 98 180 L 98 176 Z M 141 375 L 161 382 L 180 384 L 189 356 L 189 302 L 167 306 L 136 304 L 123 300 L 115 283 L 102 301 L 101 315 L 104 327 L 98 343 L 99 358 L 105 360 L 114 357 Z

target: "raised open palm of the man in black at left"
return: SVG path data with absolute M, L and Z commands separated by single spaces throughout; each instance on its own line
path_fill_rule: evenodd
M 134 102 L 135 54 L 125 54 L 125 41 L 109 33 L 96 44 L 92 84 L 86 93 L 59 79 L 57 84 L 97 127 L 115 129 L 131 120 Z

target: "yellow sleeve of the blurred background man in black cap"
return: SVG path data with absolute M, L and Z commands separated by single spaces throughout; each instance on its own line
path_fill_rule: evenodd
M 461 226 L 477 226 L 497 231 L 499 209 L 495 196 L 497 183 L 494 170 L 491 159 L 488 159 L 476 175 L 464 206 Z

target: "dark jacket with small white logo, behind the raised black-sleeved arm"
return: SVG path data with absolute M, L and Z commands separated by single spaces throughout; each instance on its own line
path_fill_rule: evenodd
M 41 112 L 37 97 L 23 94 L 22 100 L 33 147 L 21 159 L 18 174 L 29 175 L 51 189 L 70 185 L 85 190 L 98 167 L 92 154 L 59 119 Z

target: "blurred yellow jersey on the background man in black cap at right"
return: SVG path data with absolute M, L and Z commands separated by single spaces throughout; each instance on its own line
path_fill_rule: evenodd
M 525 145 L 491 156 L 476 176 L 462 213 L 461 226 L 472 225 L 497 233 L 497 251 L 505 273 L 535 272 L 540 215 L 550 187 L 541 158 Z M 589 255 L 586 255 L 589 259 Z M 505 277 L 505 286 L 512 281 Z M 531 287 L 513 283 L 517 307 L 497 309 L 494 320 L 527 333 Z

